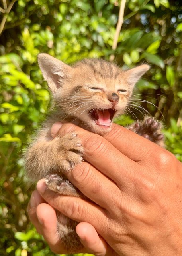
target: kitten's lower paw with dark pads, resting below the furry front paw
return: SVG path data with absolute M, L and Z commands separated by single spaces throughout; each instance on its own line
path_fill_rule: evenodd
M 57 174 L 47 175 L 45 183 L 47 188 L 58 194 L 81 197 L 79 190 L 69 180 Z

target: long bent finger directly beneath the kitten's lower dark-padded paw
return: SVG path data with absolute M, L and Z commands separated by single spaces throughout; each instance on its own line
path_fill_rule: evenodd
M 104 209 L 81 198 L 54 193 L 47 189 L 44 179 L 39 180 L 37 183 L 37 190 L 48 204 L 72 220 L 88 223 L 92 220 L 92 223 L 96 223 L 96 226 L 100 226 L 101 230 L 104 222 L 107 222 Z

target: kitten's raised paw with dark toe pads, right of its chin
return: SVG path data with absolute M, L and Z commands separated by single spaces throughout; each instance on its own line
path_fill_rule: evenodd
M 161 123 L 151 117 L 143 121 L 137 121 L 128 128 L 140 136 L 155 142 L 159 146 L 164 146 L 164 135 L 161 132 Z

